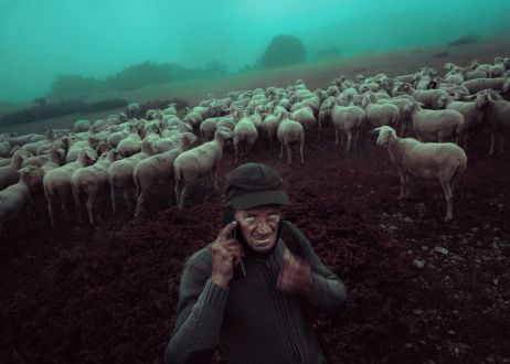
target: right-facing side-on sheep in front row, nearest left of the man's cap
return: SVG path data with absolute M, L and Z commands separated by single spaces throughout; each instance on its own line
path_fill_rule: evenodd
M 176 200 L 180 211 L 184 208 L 185 195 L 195 180 L 202 175 L 210 175 L 212 186 L 217 190 L 216 169 L 223 158 L 223 144 L 232 138 L 232 130 L 220 127 L 214 139 L 199 147 L 179 154 L 173 162 L 176 179 Z

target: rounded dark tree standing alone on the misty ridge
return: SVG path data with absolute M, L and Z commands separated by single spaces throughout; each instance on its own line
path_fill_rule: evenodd
M 297 64 L 306 58 L 306 50 L 301 41 L 294 35 L 279 34 L 266 46 L 266 52 L 258 60 L 259 67 L 277 67 Z

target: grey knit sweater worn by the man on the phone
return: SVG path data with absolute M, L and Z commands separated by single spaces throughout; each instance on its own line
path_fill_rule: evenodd
M 346 287 L 326 268 L 299 229 L 287 224 L 311 266 L 311 292 L 300 298 L 277 288 L 286 247 L 281 237 L 265 258 L 245 250 L 246 277 L 232 280 L 226 288 L 211 280 L 210 244 L 184 266 L 166 363 L 199 363 L 200 353 L 211 353 L 215 346 L 229 364 L 326 363 L 300 299 L 314 310 L 332 313 L 347 300 Z

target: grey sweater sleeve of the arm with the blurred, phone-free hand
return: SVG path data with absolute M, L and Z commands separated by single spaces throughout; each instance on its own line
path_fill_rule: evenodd
M 304 297 L 305 300 L 317 311 L 337 312 L 347 301 L 346 286 L 325 266 L 305 235 L 294 224 L 288 223 L 288 225 L 301 244 L 304 258 L 311 266 L 311 291 Z

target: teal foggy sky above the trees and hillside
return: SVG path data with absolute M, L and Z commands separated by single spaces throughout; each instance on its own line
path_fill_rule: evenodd
M 508 13 L 508 0 L 0 0 L 0 100 L 43 96 L 57 74 L 103 79 L 145 61 L 237 72 L 278 34 L 309 57 L 492 36 Z

